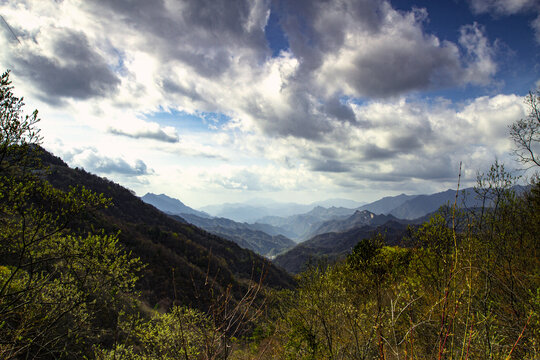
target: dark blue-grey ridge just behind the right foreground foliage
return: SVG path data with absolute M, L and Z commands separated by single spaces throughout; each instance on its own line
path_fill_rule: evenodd
M 319 261 L 332 263 L 345 257 L 360 240 L 377 233 L 385 234 L 387 245 L 397 245 L 406 232 L 407 225 L 390 221 L 382 226 L 364 225 L 345 232 L 321 234 L 276 256 L 273 262 L 288 272 L 297 274 L 309 263 L 316 264 Z

